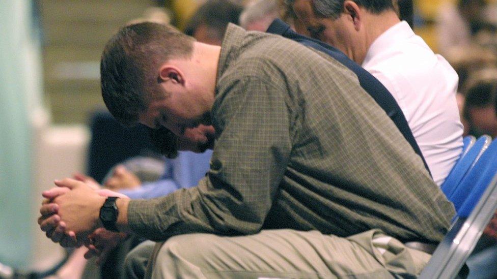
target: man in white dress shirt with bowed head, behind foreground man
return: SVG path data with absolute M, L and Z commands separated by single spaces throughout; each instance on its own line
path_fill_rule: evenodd
M 287 0 L 297 32 L 335 46 L 394 96 L 440 185 L 459 158 L 463 127 L 457 74 L 407 22 L 392 0 Z

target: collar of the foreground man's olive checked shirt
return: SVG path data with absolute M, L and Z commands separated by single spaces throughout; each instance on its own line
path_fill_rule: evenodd
M 219 78 L 223 75 L 226 68 L 230 65 L 230 61 L 233 57 L 238 56 L 240 46 L 246 35 L 245 29 L 229 23 L 226 28 L 225 37 L 221 43 L 221 53 L 219 54 L 219 61 L 217 63 L 217 76 L 216 76 L 216 87 Z M 216 92 L 217 94 L 217 92 Z

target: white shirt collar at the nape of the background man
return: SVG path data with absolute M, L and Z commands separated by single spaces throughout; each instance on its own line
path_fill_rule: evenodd
M 369 61 L 376 56 L 376 54 L 384 51 L 386 48 L 389 48 L 395 42 L 406 40 L 412 36 L 415 36 L 415 34 L 406 21 L 396 23 L 383 32 L 383 34 L 376 38 L 376 40 L 374 40 L 366 53 L 366 57 L 364 58 L 362 65 L 364 66 L 368 64 Z

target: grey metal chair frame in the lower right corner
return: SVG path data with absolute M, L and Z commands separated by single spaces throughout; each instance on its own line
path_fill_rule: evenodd
M 449 233 L 437 246 L 419 278 L 456 277 L 497 209 L 497 175 L 487 186 L 471 214 L 467 218 L 461 217 L 456 220 Z

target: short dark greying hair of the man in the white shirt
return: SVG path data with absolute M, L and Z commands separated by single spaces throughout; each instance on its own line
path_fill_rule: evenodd
M 392 0 L 353 0 L 357 6 L 366 8 L 373 14 L 379 14 L 386 10 L 395 10 Z M 293 4 L 295 0 L 286 0 L 287 4 Z M 345 0 L 313 0 L 314 12 L 318 16 L 339 18 L 343 12 Z

